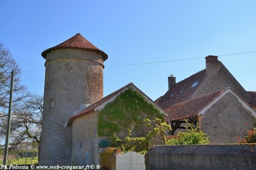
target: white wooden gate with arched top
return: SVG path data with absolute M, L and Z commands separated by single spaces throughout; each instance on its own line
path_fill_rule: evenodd
M 116 156 L 116 170 L 145 170 L 144 154 L 127 152 Z

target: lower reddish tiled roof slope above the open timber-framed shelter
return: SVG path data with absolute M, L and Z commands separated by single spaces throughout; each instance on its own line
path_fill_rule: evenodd
M 227 89 L 218 90 L 203 96 L 198 96 L 190 100 L 174 104 L 168 107 L 165 111 L 168 113 L 168 118 L 170 121 L 178 119 L 186 119 L 198 115 L 202 109 L 204 109 L 208 104 L 213 102 Z

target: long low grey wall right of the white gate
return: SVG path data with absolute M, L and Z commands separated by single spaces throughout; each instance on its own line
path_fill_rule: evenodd
M 256 143 L 155 146 L 146 170 L 255 170 Z

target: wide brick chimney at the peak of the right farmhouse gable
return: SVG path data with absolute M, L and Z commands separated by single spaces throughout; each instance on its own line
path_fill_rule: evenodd
M 213 74 L 217 75 L 218 70 L 220 70 L 220 61 L 218 61 L 218 56 L 208 55 L 205 57 L 206 62 L 206 75 Z

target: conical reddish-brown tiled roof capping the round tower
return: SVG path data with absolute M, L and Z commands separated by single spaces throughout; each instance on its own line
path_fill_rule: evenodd
M 57 48 L 78 48 L 78 49 L 88 49 L 92 51 L 96 51 L 98 53 L 101 53 L 104 57 L 104 61 L 108 59 L 108 55 L 95 47 L 92 43 L 90 43 L 87 39 L 85 39 L 80 33 L 77 33 L 70 39 L 64 41 L 63 43 L 60 43 L 59 45 L 56 45 L 55 47 L 52 47 L 50 49 L 47 49 L 42 52 L 42 57 L 46 58 L 46 55 L 48 52 L 50 52 L 53 49 Z

